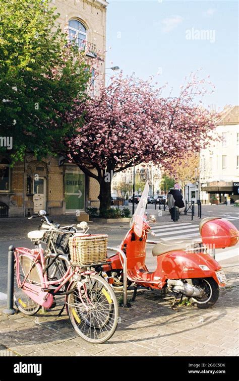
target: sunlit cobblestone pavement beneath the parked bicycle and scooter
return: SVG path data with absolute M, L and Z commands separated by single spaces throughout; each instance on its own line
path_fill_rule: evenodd
M 140 290 L 131 308 L 120 308 L 121 322 L 113 337 L 100 345 L 78 337 L 65 312 L 56 316 L 61 302 L 35 316 L 0 313 L 0 352 L 5 348 L 21 356 L 239 355 L 238 263 L 231 259 L 224 269 L 228 285 L 214 307 L 175 310 L 171 296 Z

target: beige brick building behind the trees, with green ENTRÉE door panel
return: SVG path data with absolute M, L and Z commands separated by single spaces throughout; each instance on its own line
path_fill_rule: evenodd
M 62 30 L 69 31 L 92 60 L 97 60 L 100 73 L 98 81 L 104 81 L 106 7 L 104 0 L 52 0 L 59 13 L 57 22 Z M 93 62 L 94 67 L 94 62 Z M 93 74 L 94 75 L 94 72 Z M 93 78 L 94 79 L 94 78 Z M 97 80 L 91 96 L 97 92 Z M 0 217 L 27 216 L 45 209 L 51 215 L 81 213 L 89 206 L 99 206 L 99 184 L 87 177 L 76 165 L 60 157 L 47 157 L 41 161 L 30 153 L 25 160 L 11 167 L 7 157 L 0 157 Z

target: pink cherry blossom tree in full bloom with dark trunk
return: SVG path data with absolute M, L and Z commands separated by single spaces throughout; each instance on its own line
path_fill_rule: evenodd
M 62 154 L 99 182 L 100 216 L 110 208 L 113 173 L 149 161 L 173 171 L 174 161 L 180 165 L 188 152 L 210 143 L 215 115 L 202 107 L 201 98 L 211 83 L 191 74 L 177 97 L 165 98 L 166 85 L 152 82 L 121 73 L 69 116 L 77 122 L 83 114 L 84 124 Z

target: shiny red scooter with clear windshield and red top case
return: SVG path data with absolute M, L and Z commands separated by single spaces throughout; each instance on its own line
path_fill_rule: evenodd
M 131 220 L 131 228 L 122 241 L 120 249 L 127 257 L 127 281 L 134 286 L 151 289 L 168 289 L 176 297 L 187 296 L 199 308 L 208 308 L 218 299 L 219 286 L 225 286 L 226 276 L 220 264 L 209 254 L 212 248 L 234 246 L 238 231 L 224 218 L 207 217 L 199 225 L 201 240 L 178 240 L 153 242 L 147 240 L 150 232 L 145 214 L 149 185 L 144 192 Z M 152 233 L 154 235 L 154 233 Z M 145 265 L 146 243 L 154 244 L 152 253 L 157 259 L 154 272 Z M 111 262 L 115 287 L 123 284 L 123 264 L 119 253 L 108 258 Z M 176 299 L 175 299 L 176 300 Z

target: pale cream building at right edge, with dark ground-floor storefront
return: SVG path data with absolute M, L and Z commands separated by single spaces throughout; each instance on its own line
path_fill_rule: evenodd
M 203 203 L 239 199 L 239 106 L 223 110 L 216 133 L 220 141 L 200 153 Z

